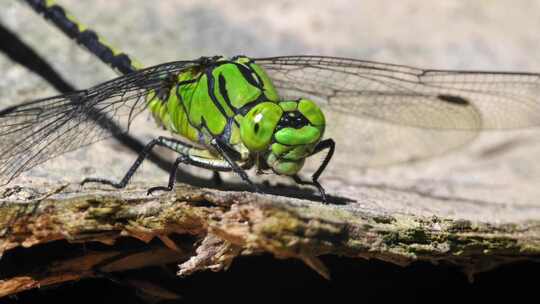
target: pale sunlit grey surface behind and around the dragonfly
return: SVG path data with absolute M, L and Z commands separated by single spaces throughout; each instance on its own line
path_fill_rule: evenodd
M 214 54 L 323 54 L 419 67 L 540 71 L 540 1 L 61 3 L 146 65 Z M 0 7 L 1 22 L 76 86 L 114 76 L 19 1 L 1 0 Z M 2 104 L 54 94 L 4 57 L 0 70 Z M 340 132 L 329 136 L 350 138 L 357 130 L 348 127 L 340 122 L 331 127 Z M 150 133 L 151 128 L 141 128 L 142 138 Z M 534 130 L 489 134 L 440 158 L 381 169 L 358 168 L 358 152 L 345 146 L 342 141 L 322 179 L 330 194 L 354 201 L 343 208 L 489 223 L 540 218 L 540 134 Z M 87 175 L 120 177 L 134 158 L 114 141 L 105 141 L 40 166 L 12 185 L 76 182 Z M 166 178 L 166 173 L 146 164 L 136 181 L 163 183 Z

